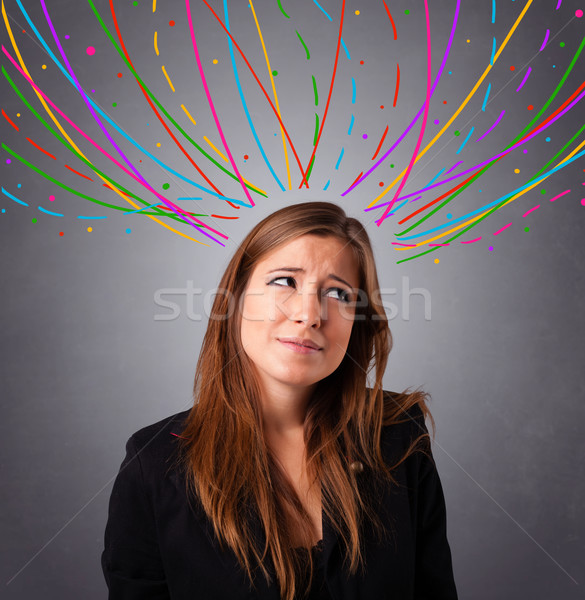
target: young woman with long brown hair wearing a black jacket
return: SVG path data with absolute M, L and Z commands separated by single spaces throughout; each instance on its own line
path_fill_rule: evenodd
M 390 348 L 359 221 L 308 202 L 258 223 L 219 284 L 193 408 L 128 440 L 110 599 L 455 600 L 426 397 L 382 389 Z

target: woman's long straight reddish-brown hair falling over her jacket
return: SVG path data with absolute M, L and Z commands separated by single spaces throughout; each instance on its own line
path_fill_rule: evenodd
M 271 559 L 283 600 L 293 600 L 295 590 L 299 593 L 307 568 L 293 548 L 292 532 L 303 533 L 309 549 L 312 527 L 265 442 L 260 388 L 240 339 L 241 304 L 258 262 L 306 234 L 333 236 L 347 244 L 360 274 L 362 298 L 346 354 L 339 367 L 317 383 L 304 421 L 309 481 L 321 483 L 323 511 L 339 533 L 352 573 L 364 567 L 360 547 L 364 521 L 373 524 L 379 535 L 386 532 L 368 497 L 360 493 L 349 463 L 359 460 L 369 472 L 394 482 L 393 468 L 428 437 L 423 434 L 414 440 L 395 465 L 385 464 L 380 448 L 382 427 L 404 421 L 405 411 L 415 404 L 424 416 L 428 409 L 426 395 L 420 391 L 383 395 L 382 377 L 392 337 L 379 298 L 372 247 L 362 224 L 328 202 L 287 206 L 258 223 L 221 278 L 197 362 L 195 404 L 179 449 L 188 495 L 203 507 L 222 547 L 234 552 L 252 583 L 256 566 L 271 581 L 267 560 Z M 266 540 L 263 548 L 254 538 L 250 517 L 260 523 Z M 313 561 L 310 552 L 308 556 L 310 585 Z

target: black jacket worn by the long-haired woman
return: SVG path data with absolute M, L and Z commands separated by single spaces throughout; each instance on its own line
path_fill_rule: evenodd
M 250 587 L 231 550 L 221 550 L 200 507 L 189 508 L 184 478 L 170 469 L 189 411 L 137 431 L 115 480 L 102 568 L 110 600 L 279 600 L 278 583 L 259 575 Z M 384 458 L 395 462 L 426 431 L 417 407 L 405 423 L 384 427 Z M 430 453 L 430 447 L 427 448 Z M 379 495 L 394 532 L 365 540 L 366 573 L 343 568 L 338 536 L 323 513 L 325 580 L 333 600 L 456 600 L 443 490 L 432 458 L 415 452 L 395 471 L 399 486 Z M 368 485 L 367 470 L 358 476 Z M 256 533 L 262 542 L 258 526 Z

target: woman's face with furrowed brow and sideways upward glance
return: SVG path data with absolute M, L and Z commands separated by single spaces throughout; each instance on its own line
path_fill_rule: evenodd
M 256 265 L 244 291 L 241 338 L 265 391 L 307 388 L 335 371 L 358 285 L 351 248 L 333 236 L 303 235 Z

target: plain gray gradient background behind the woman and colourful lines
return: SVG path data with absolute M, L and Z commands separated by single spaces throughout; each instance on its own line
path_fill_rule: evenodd
M 153 15 L 150 2 L 116 2 L 116 11 L 128 50 L 137 71 L 161 102 L 206 146 L 207 135 L 221 147 L 196 70 L 193 49 L 184 21 L 185 8 L 178 0 L 161 1 Z M 143 173 L 157 189 L 178 196 L 203 195 L 202 212 L 239 216 L 236 221 L 207 219 L 229 236 L 225 248 L 191 231 L 177 228 L 209 245 L 181 238 L 144 216 L 126 216 L 91 205 L 67 194 L 2 151 L 4 188 L 29 204 L 16 204 L 0 195 L 6 209 L 0 215 L 3 252 L 0 444 L 2 446 L 2 510 L 0 539 L 2 598 L 63 599 L 103 598 L 106 595 L 99 558 L 107 502 L 113 478 L 124 454 L 124 443 L 136 429 L 191 405 L 195 362 L 205 330 L 205 319 L 196 321 L 186 312 L 185 298 L 176 297 L 181 314 L 174 320 L 156 320 L 168 314 L 154 301 L 156 290 L 183 288 L 189 281 L 205 292 L 213 289 L 229 257 L 250 227 L 288 203 L 326 199 L 340 203 L 348 213 L 367 224 L 375 246 L 381 285 L 397 288 L 390 300 L 398 314 L 392 318 L 395 348 L 385 377 L 387 389 L 423 386 L 432 394 L 437 423 L 434 454 L 443 481 L 448 508 L 448 530 L 455 576 L 461 598 L 535 600 L 583 598 L 585 583 L 585 450 L 583 423 L 583 301 L 585 278 L 582 243 L 585 209 L 582 160 L 563 169 L 545 184 L 499 211 L 461 239 L 483 236 L 481 242 L 452 247 L 396 264 L 406 253 L 394 252 L 391 242 L 400 231 L 389 218 L 381 227 L 375 213 L 363 208 L 388 184 L 414 150 L 420 123 L 407 141 L 366 183 L 345 198 L 340 193 L 357 174 L 369 168 L 384 127 L 390 131 L 387 149 L 410 122 L 425 97 L 425 19 L 423 2 L 388 2 L 396 20 L 398 40 L 380 2 L 349 2 L 344 39 L 351 54 L 343 51 L 328 121 L 317 153 L 311 189 L 297 191 L 298 170 L 291 161 L 293 191 L 282 193 L 270 176 L 250 135 L 237 97 L 225 35 L 203 4 L 192 2 L 202 61 L 214 102 L 232 153 L 245 177 L 269 192 L 256 195 L 256 207 L 238 211 L 207 194 L 169 177 L 148 159 Z M 236 39 L 248 55 L 264 85 L 266 66 L 247 2 L 230 2 L 230 20 Z M 284 2 L 286 19 L 275 1 L 258 2 L 284 121 L 297 145 L 301 160 L 312 150 L 314 97 L 311 75 L 319 87 L 322 115 L 331 77 L 340 2 L 323 2 L 329 22 L 310 1 Z M 433 77 L 438 69 L 451 27 L 454 1 L 430 2 L 433 42 Z M 50 31 L 39 3 L 24 3 L 47 40 Z M 540 108 L 557 85 L 583 37 L 585 18 L 576 19 L 579 1 L 535 1 L 476 96 L 451 130 L 415 166 L 405 188 L 414 191 L 428 183 L 443 167 L 456 160 L 465 166 L 496 154 L 528 122 L 527 104 Z M 109 27 L 107 2 L 96 3 Z M 213 2 L 223 16 L 222 4 Z M 501 43 L 524 6 L 517 0 L 497 1 L 496 22 L 491 23 L 491 2 L 463 0 L 457 33 L 447 70 L 431 102 L 425 143 L 467 96 L 489 62 L 492 36 Z M 411 14 L 404 15 L 405 8 Z M 189 163 L 173 149 L 162 127 L 142 98 L 135 82 L 99 29 L 85 2 L 50 1 L 48 9 L 77 76 L 112 118 L 150 151 L 178 171 L 200 182 Z M 359 9 L 360 16 L 354 11 Z M 25 20 L 15 0 L 7 0 L 10 22 L 18 33 L 23 57 L 35 81 L 84 130 L 107 146 L 75 90 L 50 63 L 32 36 L 22 34 Z M 177 25 L 168 26 L 169 19 Z M 538 49 L 546 29 L 550 46 Z M 311 51 L 307 61 L 295 29 Z M 152 47 L 159 31 L 157 57 Z M 556 36 L 556 37 L 555 37 Z M 470 43 L 466 42 L 470 39 Z M 3 30 L 3 43 L 12 46 Z M 559 42 L 564 41 L 561 48 Z M 87 45 L 96 55 L 85 54 Z M 56 50 L 54 43 L 50 44 Z M 212 60 L 218 59 L 213 65 Z M 364 65 L 359 65 L 363 59 Z M 532 75 L 516 93 L 522 69 L 529 61 Z M 396 62 L 402 84 L 398 104 L 392 109 Z M 44 114 L 40 103 L 16 70 L 3 59 L 10 76 L 26 97 Z M 43 70 L 42 64 L 48 68 Z M 161 74 L 166 65 L 176 88 L 173 94 Z M 516 71 L 509 66 L 514 64 Z M 241 61 L 239 72 L 256 127 L 268 156 L 283 183 L 286 170 L 282 142 L 272 113 Z M 553 68 L 553 65 L 556 67 Z M 117 78 L 118 72 L 124 76 Z M 551 109 L 560 105 L 581 83 L 580 59 L 566 87 Z M 351 77 L 357 84 L 351 104 Z M 492 94 L 484 112 L 486 85 Z M 67 163 L 85 174 L 85 165 L 66 152 L 38 125 L 2 79 L 1 105 L 17 120 L 20 133 L 2 122 L 2 140 L 39 168 L 76 189 L 102 201 L 120 204 L 101 183 L 81 181 L 63 168 Z M 565 91 L 567 90 L 567 91 Z M 444 105 L 443 100 L 448 104 Z M 118 106 L 112 108 L 112 102 Z M 194 118 L 185 117 L 184 103 Z M 379 105 L 384 104 L 384 110 Z M 473 125 L 474 139 L 486 131 L 502 109 L 504 120 L 486 140 L 469 142 L 456 156 L 463 136 Z M 16 113 L 22 116 L 16 119 Z M 352 112 L 355 125 L 347 130 Z M 536 110 L 534 111 L 536 112 Z M 550 111 L 547 115 L 550 114 Z M 518 185 L 558 151 L 582 124 L 579 105 L 546 134 L 500 161 L 484 178 L 452 204 L 454 217 L 498 198 Z M 147 127 L 146 123 L 150 123 Z M 71 131 L 68 129 L 68 131 Z M 368 133 L 367 140 L 362 134 Z M 550 135 L 551 142 L 544 137 Z M 55 154 L 45 157 L 26 141 Z M 121 183 L 141 193 L 129 178 L 98 156 L 85 141 L 89 158 Z M 121 138 L 116 136 L 116 140 Z M 162 146 L 156 148 L 156 142 Z M 345 155 L 339 170 L 335 163 L 341 147 Z M 124 144 L 128 156 L 140 153 Z M 250 159 L 243 163 L 243 155 Z M 207 166 L 192 153 L 226 195 L 243 198 L 237 184 Z M 395 163 L 391 169 L 389 163 Z M 137 163 L 138 164 L 138 163 Z M 519 175 L 514 168 L 520 168 Z M 96 178 L 97 179 L 97 178 Z M 323 191 L 327 180 L 330 187 Z M 98 180 L 99 181 L 99 180 Z M 17 188 L 21 183 L 22 187 Z M 540 190 L 546 189 L 546 195 Z M 549 198 L 572 189 L 555 203 Z M 482 192 L 479 192 L 479 189 Z M 56 200 L 50 203 L 48 196 Z M 153 196 L 142 194 L 149 203 Z M 434 196 L 433 196 L 434 197 Z M 388 195 L 387 199 L 391 196 Z M 428 197 L 428 199 L 432 199 Z M 522 214 L 541 207 L 526 219 Z M 183 203 L 191 208 L 195 204 Z M 52 217 L 37 206 L 62 212 Z M 377 213 L 380 214 L 380 213 Z M 107 215 L 105 220 L 81 221 L 77 215 Z M 36 217 L 38 222 L 33 223 Z M 434 224 L 445 220 L 444 211 Z M 492 233 L 512 222 L 497 238 Z M 86 231 L 92 225 L 93 232 Z M 524 225 L 530 226 L 524 232 Z M 131 227 L 132 233 L 125 229 Z M 60 237 L 59 232 L 64 236 Z M 493 252 L 488 245 L 493 244 Z M 398 255 L 398 258 L 397 258 Z M 435 264 L 434 259 L 440 262 Z M 426 288 L 431 298 L 431 318 L 425 319 L 423 297 L 413 295 L 408 304 L 401 293 L 408 278 L 410 288 Z M 203 298 L 194 310 L 203 313 Z M 16 576 L 15 576 L 16 575 Z

